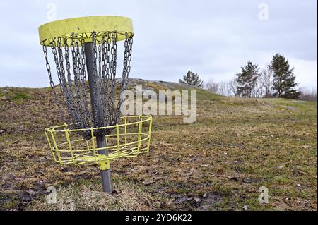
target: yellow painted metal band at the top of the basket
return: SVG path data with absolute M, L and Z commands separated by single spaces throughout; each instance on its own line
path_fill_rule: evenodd
M 88 16 L 57 20 L 39 27 L 40 44 L 49 46 L 57 37 L 71 37 L 72 34 L 81 35 L 86 42 L 91 40 L 92 32 L 117 32 L 117 41 L 134 35 L 132 20 L 124 16 Z

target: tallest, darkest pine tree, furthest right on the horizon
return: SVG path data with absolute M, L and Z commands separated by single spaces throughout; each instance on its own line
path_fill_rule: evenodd
M 296 90 L 298 83 L 295 82 L 293 68 L 290 68 L 289 62 L 281 54 L 273 56 L 270 65 L 273 71 L 273 95 L 289 99 L 297 99 L 301 92 Z

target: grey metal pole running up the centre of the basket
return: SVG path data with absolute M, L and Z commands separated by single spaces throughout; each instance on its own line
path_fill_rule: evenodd
M 94 78 L 94 58 L 95 53 L 93 52 L 93 42 L 84 44 L 85 56 L 86 56 L 86 66 L 88 74 L 88 85 L 90 87 L 90 102 L 93 111 L 93 118 L 98 118 L 98 126 L 102 126 L 102 107 L 100 106 L 100 92 L 98 90 L 98 75 L 95 74 Z M 96 102 L 95 102 L 96 101 Z M 95 102 L 95 104 L 94 104 Z M 96 135 L 97 147 L 105 147 L 105 136 Z M 107 155 L 107 150 L 99 150 L 99 154 Z M 100 175 L 102 176 L 102 190 L 106 193 L 112 193 L 112 178 L 110 178 L 110 169 L 100 170 Z

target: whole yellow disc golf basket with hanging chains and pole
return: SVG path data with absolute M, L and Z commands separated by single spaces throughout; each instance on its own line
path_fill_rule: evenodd
M 52 156 L 62 165 L 99 164 L 102 188 L 112 193 L 110 161 L 148 152 L 151 140 L 151 116 L 120 114 L 119 96 L 130 72 L 132 21 L 120 16 L 71 18 L 42 25 L 39 34 L 54 101 L 64 120 L 45 129 Z M 117 42 L 122 40 L 122 77 L 116 79 Z

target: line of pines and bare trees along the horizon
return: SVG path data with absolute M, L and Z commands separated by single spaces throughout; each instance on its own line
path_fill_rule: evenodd
M 282 54 L 275 54 L 271 62 L 261 70 L 257 64 L 248 61 L 242 66 L 235 78 L 227 82 L 216 83 L 209 80 L 205 88 L 219 95 L 261 98 L 282 97 L 288 99 L 317 99 L 317 92 L 302 92 L 295 81 L 294 69 Z M 204 87 L 197 73 L 188 71 L 179 83 Z

